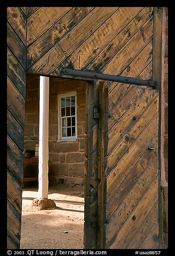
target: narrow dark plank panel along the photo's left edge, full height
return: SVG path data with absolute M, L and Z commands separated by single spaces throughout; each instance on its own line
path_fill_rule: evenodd
M 8 7 L 7 25 L 7 247 L 19 249 L 23 180 L 26 9 Z

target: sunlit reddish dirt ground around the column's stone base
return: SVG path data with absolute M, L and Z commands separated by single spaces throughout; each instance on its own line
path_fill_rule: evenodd
M 38 188 L 23 189 L 21 216 L 21 249 L 83 248 L 84 186 L 52 187 L 48 199 L 56 208 L 31 210 Z

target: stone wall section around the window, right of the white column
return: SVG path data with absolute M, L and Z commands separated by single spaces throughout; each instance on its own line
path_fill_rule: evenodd
M 59 82 L 58 82 L 59 81 Z M 50 78 L 49 181 L 67 186 L 84 183 L 85 81 Z M 77 140 L 57 142 L 57 95 L 77 92 Z

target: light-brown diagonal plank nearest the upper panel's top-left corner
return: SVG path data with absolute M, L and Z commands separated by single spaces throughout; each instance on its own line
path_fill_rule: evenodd
M 27 45 L 32 44 L 72 7 L 41 7 L 27 18 Z

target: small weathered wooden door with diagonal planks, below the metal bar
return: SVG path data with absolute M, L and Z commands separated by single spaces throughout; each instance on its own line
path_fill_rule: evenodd
M 99 88 L 98 247 L 161 248 L 158 234 L 158 90 Z

